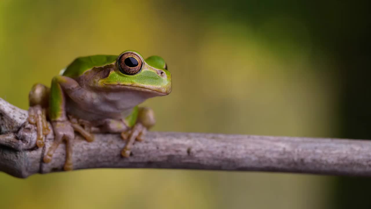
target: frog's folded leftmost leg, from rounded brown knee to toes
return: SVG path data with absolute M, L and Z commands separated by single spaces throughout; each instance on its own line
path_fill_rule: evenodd
M 37 147 L 44 147 L 45 135 L 49 134 L 50 129 L 46 121 L 47 108 L 49 104 L 50 89 L 43 84 L 35 84 L 29 93 L 28 121 L 36 125 Z

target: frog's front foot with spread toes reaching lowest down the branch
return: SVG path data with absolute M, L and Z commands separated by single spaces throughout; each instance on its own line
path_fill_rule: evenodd
M 55 138 L 52 146 L 48 149 L 46 155 L 44 156 L 44 162 L 49 163 L 52 160 L 55 150 L 58 148 L 59 144 L 63 141 L 66 141 L 66 161 L 64 165 L 64 170 L 72 170 L 72 144 L 73 139 L 75 138 L 75 132 L 72 128 L 71 123 L 68 120 L 63 121 L 53 121 L 53 130 Z

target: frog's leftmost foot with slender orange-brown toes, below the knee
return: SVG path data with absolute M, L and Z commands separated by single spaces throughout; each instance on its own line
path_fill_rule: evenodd
M 46 121 L 46 109 L 42 108 L 40 105 L 31 106 L 28 110 L 28 122 L 36 125 L 37 147 L 44 147 L 45 136 L 50 133 L 50 129 Z

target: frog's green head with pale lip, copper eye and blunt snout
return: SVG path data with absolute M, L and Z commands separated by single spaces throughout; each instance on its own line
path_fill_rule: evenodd
M 101 67 L 91 81 L 99 89 L 139 91 L 151 97 L 171 92 L 171 74 L 164 59 L 159 56 L 144 59 L 132 50 L 122 52 L 114 63 Z

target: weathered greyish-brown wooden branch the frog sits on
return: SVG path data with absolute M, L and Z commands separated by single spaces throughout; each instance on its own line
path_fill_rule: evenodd
M 65 146 L 52 162 L 43 163 L 53 133 L 44 148 L 36 148 L 35 127 L 27 112 L 0 98 L 0 171 L 26 178 L 62 171 Z M 276 171 L 342 176 L 371 176 L 371 141 L 201 133 L 150 132 L 137 142 L 133 155 L 122 158 L 125 142 L 118 134 L 100 134 L 95 141 L 76 138 L 75 169 L 186 168 L 200 170 Z

